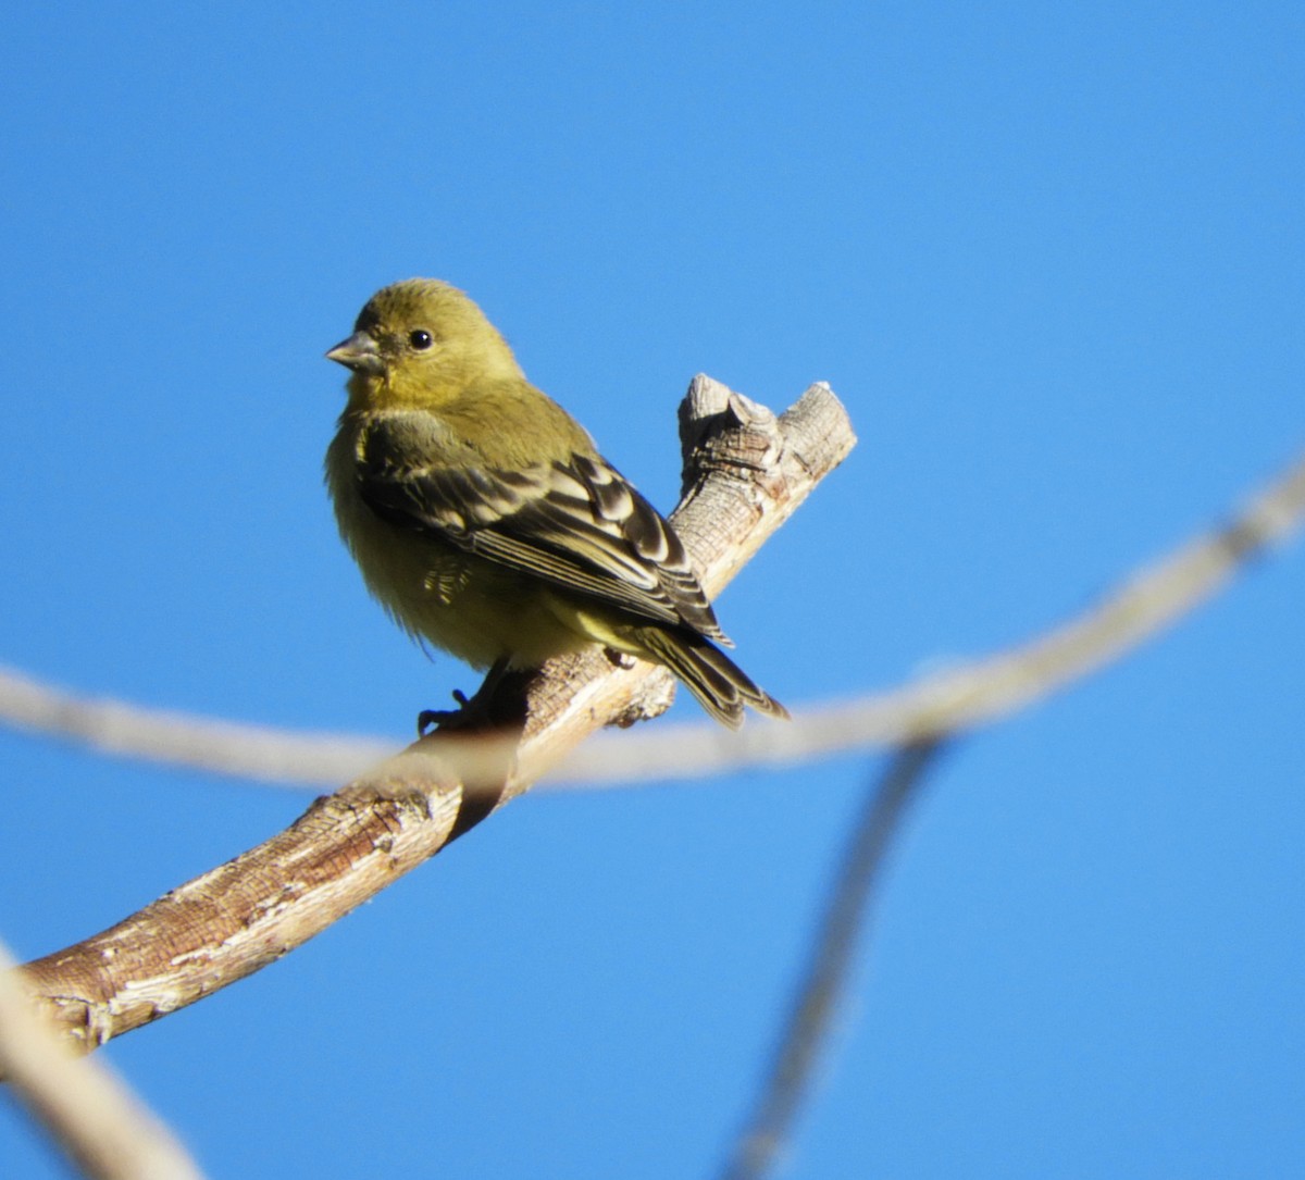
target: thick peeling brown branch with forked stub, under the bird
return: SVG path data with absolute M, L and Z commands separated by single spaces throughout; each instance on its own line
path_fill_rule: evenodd
M 672 520 L 713 595 L 855 442 L 827 386 L 776 419 L 701 376 L 681 439 L 686 493 Z M 553 660 L 523 685 L 523 726 L 415 743 L 258 847 L 29 963 L 27 982 L 82 1048 L 103 1044 L 292 950 L 527 790 L 594 730 L 660 713 L 672 689 L 664 668 L 616 666 L 596 649 Z

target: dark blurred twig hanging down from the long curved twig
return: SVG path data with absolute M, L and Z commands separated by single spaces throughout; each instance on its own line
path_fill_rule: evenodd
M 883 863 L 941 749 L 941 739 L 906 747 L 867 794 L 779 1048 L 723 1180 L 761 1180 L 779 1162 L 829 1040 Z

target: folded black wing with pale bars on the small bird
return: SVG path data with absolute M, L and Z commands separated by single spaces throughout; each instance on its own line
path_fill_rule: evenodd
M 411 426 L 372 426 L 358 466 L 364 503 L 392 523 L 431 533 L 643 619 L 728 644 L 684 544 L 660 513 L 599 456 L 497 470 L 467 454 L 422 463 Z

